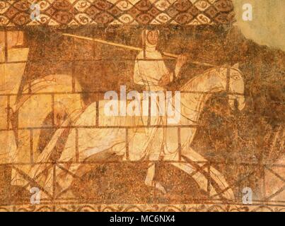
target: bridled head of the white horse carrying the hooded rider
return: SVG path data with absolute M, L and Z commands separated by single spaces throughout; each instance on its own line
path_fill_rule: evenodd
M 245 107 L 245 83 L 243 81 L 243 76 L 238 68 L 238 64 L 235 64 L 231 68 L 221 69 L 223 78 L 225 78 L 225 90 L 228 90 L 228 104 L 231 109 L 235 110 L 236 107 L 241 111 Z M 228 74 L 229 70 L 229 74 Z M 228 85 L 228 89 L 227 86 Z M 237 105 L 235 105 L 237 103 Z

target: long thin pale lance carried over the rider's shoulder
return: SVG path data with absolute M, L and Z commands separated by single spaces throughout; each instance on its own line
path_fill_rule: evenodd
M 109 41 L 105 41 L 105 40 L 100 40 L 98 38 L 92 38 L 92 37 L 84 37 L 84 36 L 78 36 L 78 35 L 71 35 L 71 34 L 67 34 L 67 33 L 64 33 L 62 34 L 64 36 L 69 36 L 69 37 L 74 37 L 76 39 L 79 39 L 79 40 L 89 40 L 89 41 L 93 41 L 93 42 L 99 42 L 99 43 L 102 43 L 102 44 L 109 44 L 109 45 L 112 45 L 114 47 L 121 47 L 121 48 L 124 48 L 124 49 L 130 49 L 130 50 L 136 50 L 136 51 L 142 51 L 143 49 L 139 48 L 139 47 L 132 47 L 132 46 L 129 46 L 127 44 L 120 44 L 120 43 L 115 43 L 115 42 L 109 42 Z M 163 55 L 166 56 L 166 57 L 173 57 L 173 58 L 178 58 L 179 56 L 177 54 L 170 54 L 168 52 L 163 52 Z M 214 66 L 213 64 L 208 64 L 208 63 L 202 63 L 202 62 L 199 62 L 199 61 L 191 61 L 192 64 L 198 64 L 198 65 L 202 65 L 202 66 Z

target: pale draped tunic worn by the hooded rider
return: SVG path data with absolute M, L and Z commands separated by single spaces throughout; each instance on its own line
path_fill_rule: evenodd
M 165 88 L 158 85 L 161 78 L 165 75 L 170 75 L 170 81 L 173 81 L 173 74 L 169 73 L 161 53 L 156 50 L 156 46 L 152 46 L 146 42 L 146 50 L 141 51 L 136 57 L 134 64 L 134 83 L 144 85 L 145 89 L 149 91 L 165 91 Z M 157 105 L 156 107 L 159 111 L 160 106 Z M 152 115 L 151 125 L 160 124 L 166 124 L 165 116 Z M 145 133 L 135 134 L 132 141 L 134 148 L 130 150 L 129 156 L 132 160 L 139 160 L 146 156 L 148 160 L 158 160 L 161 156 L 163 145 L 163 129 L 148 128 L 144 131 Z

